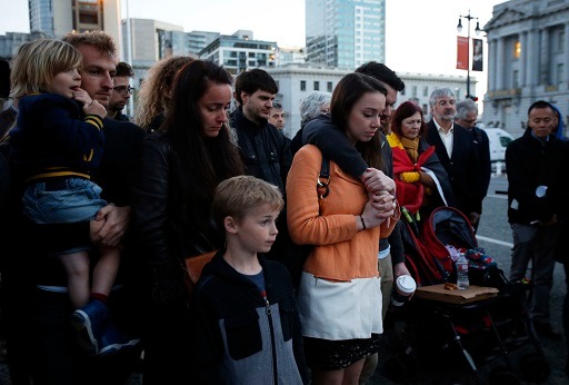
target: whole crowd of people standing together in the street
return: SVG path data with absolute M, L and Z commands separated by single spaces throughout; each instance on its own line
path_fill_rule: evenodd
M 365 384 L 392 327 L 393 280 L 410 275 L 401 213 L 456 207 L 478 228 L 490 159 L 476 103 L 438 88 L 427 122 L 413 101 L 396 109 L 405 82 L 371 61 L 309 93 L 287 138 L 262 69 L 233 79 L 163 59 L 131 118 L 132 77 L 102 31 L 28 42 L 12 59 L 0 120 L 12 384 L 124 384 L 136 371 L 144 385 Z M 510 278 L 531 260 L 532 317 L 550 338 L 568 217 L 556 111 L 535 102 L 506 157 Z M 190 293 L 183 261 L 206 253 Z

